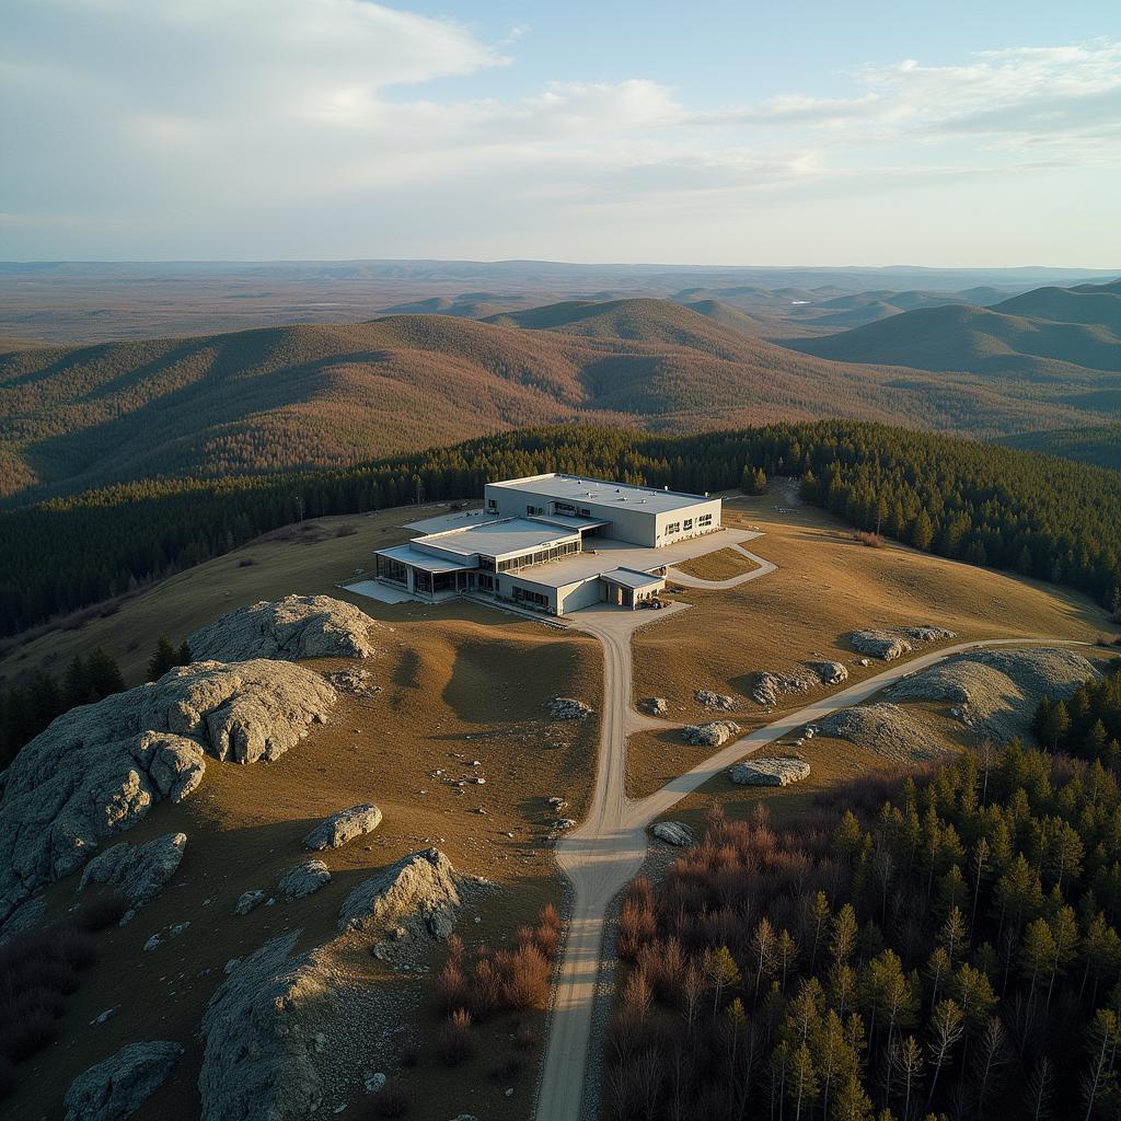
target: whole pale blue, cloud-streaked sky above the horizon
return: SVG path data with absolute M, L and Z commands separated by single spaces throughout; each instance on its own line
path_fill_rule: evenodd
M 1121 4 L 6 0 L 0 260 L 1121 267 Z

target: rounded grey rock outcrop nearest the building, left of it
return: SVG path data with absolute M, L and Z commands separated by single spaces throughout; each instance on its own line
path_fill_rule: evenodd
M 288 595 L 231 611 L 196 630 L 187 643 L 196 658 L 370 658 L 370 632 L 380 624 L 365 612 L 327 595 Z

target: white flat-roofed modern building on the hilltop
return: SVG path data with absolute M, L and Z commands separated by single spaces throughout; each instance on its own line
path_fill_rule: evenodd
M 666 586 L 659 549 L 721 529 L 721 500 L 577 475 L 488 483 L 483 517 L 378 549 L 377 578 L 439 600 L 480 594 L 562 615 L 640 606 Z

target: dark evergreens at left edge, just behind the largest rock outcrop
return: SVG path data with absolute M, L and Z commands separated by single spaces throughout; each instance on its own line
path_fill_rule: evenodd
M 173 666 L 185 666 L 189 661 L 191 647 L 184 642 L 176 648 L 165 636 L 148 663 L 147 679 L 154 682 Z M 98 647 L 89 658 L 74 655 L 62 680 L 40 669 L 26 683 L 15 683 L 0 691 L 0 769 L 56 716 L 124 688 L 124 676 L 117 660 Z

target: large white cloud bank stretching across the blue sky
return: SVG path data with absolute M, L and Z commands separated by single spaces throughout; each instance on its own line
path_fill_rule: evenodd
M 1121 44 L 905 59 L 852 72 L 837 96 L 732 108 L 641 76 L 465 96 L 524 34 L 490 44 L 367 0 L 34 0 L 0 39 L 0 224 L 54 229 L 59 247 L 91 244 L 73 231 L 100 228 L 102 256 L 120 256 L 122 230 L 156 239 L 157 256 L 222 256 L 245 229 L 259 256 L 314 256 L 321 223 L 349 220 L 358 238 L 392 214 L 393 252 L 411 234 L 433 253 L 432 209 L 470 215 L 480 243 L 511 211 L 531 224 L 535 206 L 552 231 L 641 203 L 660 233 L 691 197 L 711 214 L 768 192 L 824 197 L 1121 156 Z M 441 99 L 441 78 L 469 81 Z

